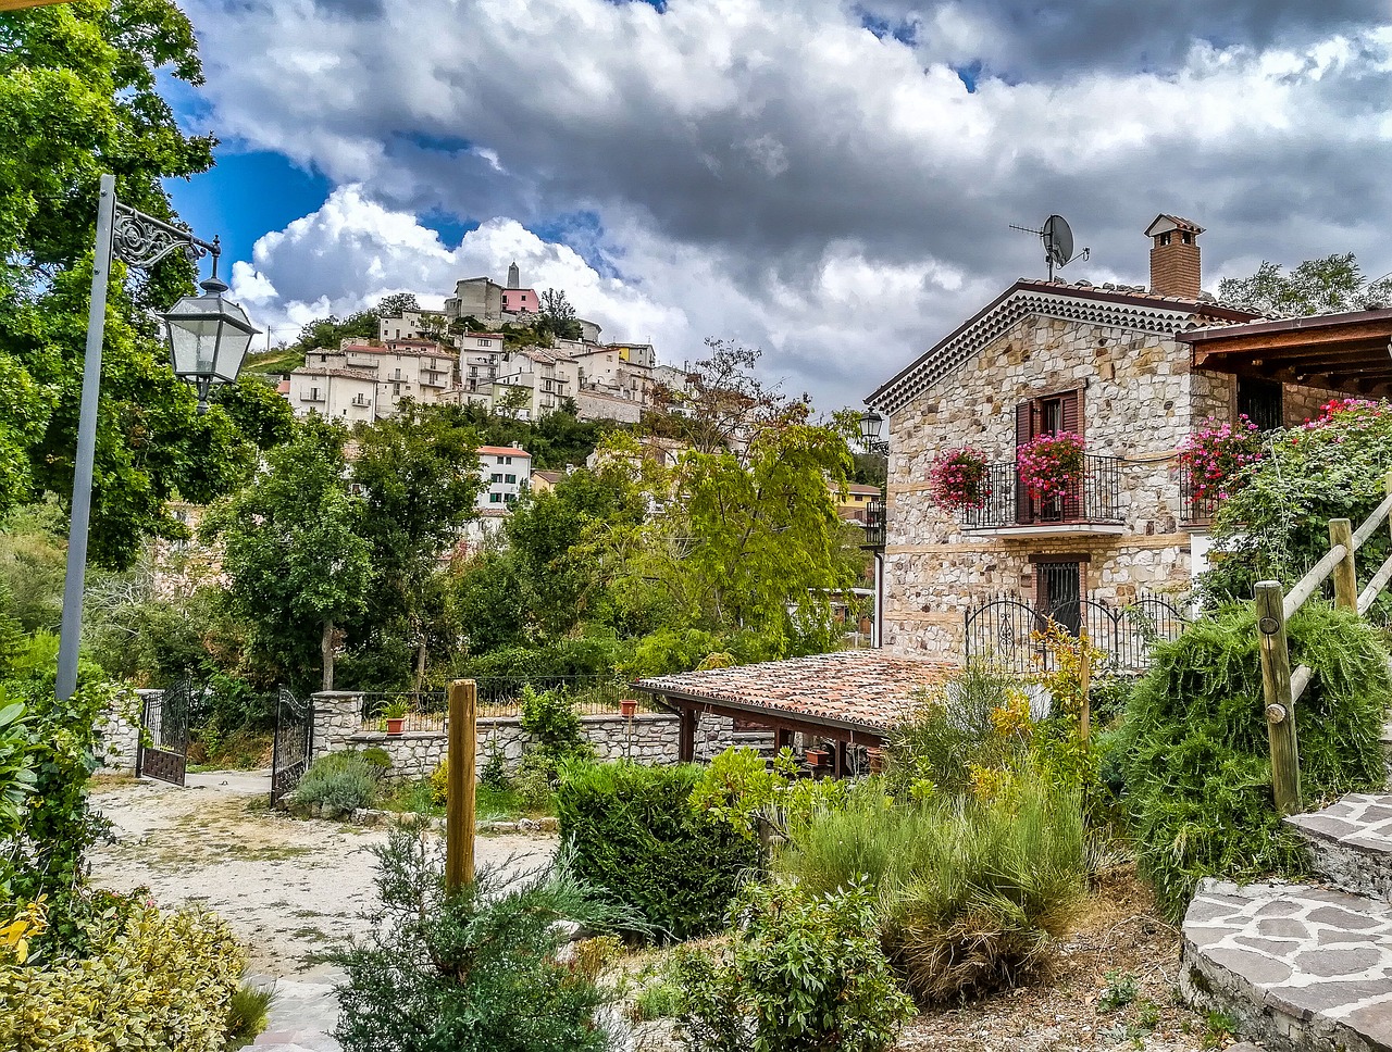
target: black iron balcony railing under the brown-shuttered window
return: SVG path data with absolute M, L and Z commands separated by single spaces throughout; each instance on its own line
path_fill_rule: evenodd
M 1013 461 L 987 466 L 986 502 L 965 508 L 966 529 L 1005 529 L 1016 526 L 1066 526 L 1077 523 L 1116 523 L 1122 519 L 1121 458 L 1083 456 L 1083 472 L 1065 493 L 1057 497 L 1031 497 L 1020 481 Z

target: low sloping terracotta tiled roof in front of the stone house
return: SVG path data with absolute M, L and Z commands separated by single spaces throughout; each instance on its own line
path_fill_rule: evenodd
M 841 740 L 881 739 L 952 665 L 883 650 L 683 672 L 635 686 L 682 711 L 709 711 Z

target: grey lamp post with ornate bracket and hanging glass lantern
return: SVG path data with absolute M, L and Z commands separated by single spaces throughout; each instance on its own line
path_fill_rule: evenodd
M 152 267 L 171 252 L 191 262 L 213 257 L 213 277 L 202 296 L 184 296 L 164 316 L 170 363 L 174 374 L 198 387 L 198 412 L 207 412 L 213 384 L 237 378 L 258 330 L 246 312 L 223 299 L 227 291 L 217 278 L 221 248 L 195 238 L 116 199 L 116 177 L 103 175 L 96 212 L 96 245 L 92 256 L 92 303 L 88 309 L 86 358 L 82 365 L 82 408 L 78 415 L 78 448 L 72 466 L 72 520 L 68 529 L 68 568 L 63 583 L 63 635 L 58 641 L 58 700 L 72 697 L 78 685 L 78 647 L 82 636 L 82 587 L 86 577 L 88 529 L 92 520 L 92 465 L 96 458 L 96 411 L 102 387 L 102 340 L 106 334 L 106 288 L 111 259 Z

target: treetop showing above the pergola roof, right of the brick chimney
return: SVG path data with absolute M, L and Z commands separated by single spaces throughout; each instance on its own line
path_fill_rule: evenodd
M 1336 314 L 1392 303 L 1392 277 L 1368 281 L 1352 252 L 1307 259 L 1289 274 L 1263 260 L 1246 278 L 1224 278 L 1218 299 L 1244 310 L 1275 314 Z

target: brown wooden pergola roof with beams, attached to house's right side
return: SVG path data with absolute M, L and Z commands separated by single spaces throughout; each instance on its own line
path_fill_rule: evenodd
M 1247 321 L 1179 333 L 1196 369 L 1392 397 L 1392 310 Z

